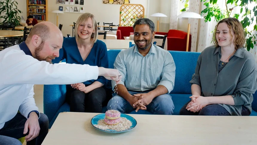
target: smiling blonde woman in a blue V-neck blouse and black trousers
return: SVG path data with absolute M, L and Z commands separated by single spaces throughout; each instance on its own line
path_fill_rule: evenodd
M 108 68 L 107 48 L 103 41 L 97 40 L 97 22 L 91 13 L 79 16 L 75 27 L 75 37 L 64 38 L 60 56 L 52 60 L 59 63 L 66 59 L 69 64 L 89 64 Z M 74 72 L 76 75 L 76 72 Z M 111 99 L 111 87 L 103 77 L 77 84 L 68 84 L 67 102 L 72 112 L 101 113 L 102 106 Z

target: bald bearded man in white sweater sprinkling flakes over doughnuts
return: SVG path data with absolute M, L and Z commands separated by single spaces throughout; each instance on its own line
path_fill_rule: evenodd
M 0 52 L 0 144 L 42 144 L 48 117 L 39 113 L 34 84 L 76 84 L 98 76 L 117 81 L 118 70 L 80 64 L 50 64 L 59 57 L 62 32 L 51 22 L 36 24 L 25 42 Z M 74 75 L 76 72 L 76 75 Z M 17 113 L 18 110 L 20 113 Z

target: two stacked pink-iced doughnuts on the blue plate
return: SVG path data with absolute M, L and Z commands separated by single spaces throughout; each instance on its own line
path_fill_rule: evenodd
M 120 112 L 117 110 L 108 110 L 105 112 L 104 123 L 107 125 L 116 125 L 120 123 Z

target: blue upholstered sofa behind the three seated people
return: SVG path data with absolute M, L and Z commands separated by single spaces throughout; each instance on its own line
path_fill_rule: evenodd
M 116 56 L 121 50 L 109 50 L 109 68 L 113 68 Z M 176 76 L 175 87 L 170 93 L 175 105 L 173 115 L 179 115 L 180 108 L 188 102 L 191 96 L 191 84 L 189 81 L 195 72 L 196 62 L 200 53 L 198 52 L 182 52 L 182 51 L 169 51 L 175 61 Z M 110 83 L 110 82 L 109 82 Z M 256 91 L 257 92 L 257 91 Z M 65 85 L 44 85 L 44 113 L 48 116 L 49 127 L 53 125 L 54 120 L 60 112 L 70 111 L 70 106 L 65 102 L 66 86 Z M 255 99 L 257 93 L 254 94 L 252 103 L 252 114 L 257 116 L 257 100 Z M 103 107 L 103 113 L 106 107 Z M 148 111 L 140 110 L 130 114 L 151 114 Z

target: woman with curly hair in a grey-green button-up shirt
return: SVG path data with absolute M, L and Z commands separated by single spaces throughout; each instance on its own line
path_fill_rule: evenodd
M 191 100 L 180 115 L 249 116 L 257 69 L 253 55 L 243 47 L 242 24 L 236 18 L 222 19 L 215 27 L 213 42 L 215 46 L 204 49 L 198 58 L 190 81 Z

